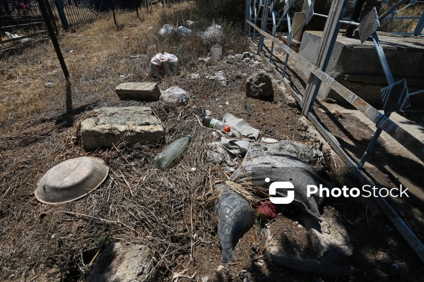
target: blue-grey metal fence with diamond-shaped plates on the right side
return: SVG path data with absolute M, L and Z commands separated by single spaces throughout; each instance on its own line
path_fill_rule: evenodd
M 290 48 L 290 45 L 293 42 L 293 37 L 300 31 L 303 25 L 306 25 L 307 22 L 314 15 L 313 11 L 313 3 L 311 0 L 307 0 L 307 11 L 305 16 L 304 23 L 298 27 L 298 30 L 291 29 L 290 24 L 290 6 L 293 4 L 293 0 L 285 0 L 285 6 L 282 11 L 274 11 L 274 7 L 277 0 L 246 0 L 246 33 L 249 37 L 252 37 L 252 42 L 255 44 L 257 42 L 257 50 L 258 54 L 266 61 L 269 67 L 273 69 L 273 72 L 285 82 L 285 73 L 288 64 L 289 56 L 300 62 L 302 66 L 305 66 L 310 71 L 310 78 L 307 82 L 307 86 L 305 88 L 305 93 L 302 95 L 298 94 L 293 90 L 287 82 L 285 84 L 288 86 L 290 90 L 292 90 L 295 99 L 298 104 L 302 106 L 302 115 L 307 117 L 317 128 L 319 133 L 329 142 L 329 145 L 334 149 L 334 151 L 346 162 L 348 167 L 351 169 L 351 172 L 358 176 L 361 183 L 364 185 L 372 185 L 378 187 L 378 183 L 372 183 L 372 180 L 368 178 L 365 173 L 362 171 L 363 165 L 367 160 L 367 156 L 374 149 L 374 145 L 379 138 L 379 135 L 384 130 L 388 133 L 394 140 L 398 141 L 401 145 L 403 145 L 406 149 L 408 149 L 412 154 L 414 154 L 418 159 L 424 161 L 424 144 L 420 142 L 420 140 L 416 139 L 415 136 L 408 133 L 406 130 L 401 128 L 399 125 L 394 123 L 394 121 L 390 120 L 390 114 L 393 111 L 398 111 L 401 109 L 406 109 L 411 105 L 409 98 L 413 94 L 421 94 L 424 90 L 409 94 L 408 86 L 406 85 L 406 80 L 399 80 L 397 82 L 394 81 L 393 75 L 391 75 L 391 71 L 389 68 L 389 63 L 387 62 L 386 57 L 384 56 L 384 51 L 382 49 L 381 44 L 379 43 L 377 28 L 379 27 L 379 19 L 382 17 L 377 16 L 377 11 L 373 9 L 371 13 L 369 13 L 361 23 L 355 23 L 354 21 L 346 21 L 343 20 L 344 13 L 346 11 L 346 6 L 348 4 L 348 0 L 334 0 L 331 3 L 331 9 L 328 16 L 325 15 L 317 15 L 324 16 L 327 18 L 326 25 L 324 27 L 324 32 L 322 35 L 322 42 L 319 46 L 317 60 L 314 63 L 310 63 L 307 59 L 300 56 L 298 53 L 293 51 Z M 401 0 L 404 1 L 404 0 Z M 398 4 L 396 4 L 398 5 Z M 395 6 L 396 6 L 395 5 Z M 262 12 L 262 18 L 258 18 L 259 13 Z M 278 23 L 276 22 L 276 18 L 278 18 L 278 13 L 281 13 L 279 16 Z M 267 27 L 269 23 L 269 14 L 271 14 L 272 19 L 272 30 L 267 32 Z M 384 15 L 383 15 L 384 16 Z M 424 17 L 421 16 L 421 18 Z M 285 19 L 288 24 L 288 44 L 284 44 L 276 36 L 276 28 L 280 25 L 281 21 Z M 254 20 L 252 22 L 251 20 Z M 260 21 L 260 26 L 258 27 L 257 22 Z M 331 78 L 326 71 L 326 66 L 328 65 L 331 52 L 334 49 L 334 44 L 336 42 L 336 37 L 340 29 L 341 23 L 348 23 L 351 25 L 356 25 L 359 28 L 360 32 L 360 40 L 361 42 L 365 42 L 365 40 L 369 37 L 372 38 L 375 43 L 375 48 L 377 51 L 377 55 L 379 56 L 380 62 L 382 63 L 384 74 L 387 78 L 387 87 L 382 89 L 382 100 L 384 105 L 384 114 L 380 113 L 373 106 L 365 102 L 363 99 L 358 97 L 355 93 L 348 90 L 346 87 L 338 83 L 334 78 Z M 253 29 L 253 32 L 252 32 Z M 422 29 L 420 30 L 422 32 Z M 259 33 L 259 37 L 257 34 Z M 264 38 L 267 38 L 271 41 L 271 54 L 269 54 L 269 58 L 267 58 L 263 52 L 264 47 Z M 285 52 L 285 63 L 283 72 L 280 73 L 272 64 L 273 57 L 273 47 L 274 44 L 277 44 L 278 47 L 281 48 L 283 52 Z M 334 137 L 329 133 L 325 126 L 318 121 L 317 117 L 312 113 L 312 107 L 317 99 L 317 94 L 319 91 L 320 85 L 328 85 L 332 90 L 337 92 L 341 97 L 346 99 L 346 102 L 351 104 L 358 109 L 364 116 L 370 119 L 372 123 L 375 123 L 377 130 L 375 134 L 372 136 L 370 143 L 363 154 L 363 157 L 360 159 L 358 164 L 349 156 L 341 145 L 338 144 Z M 384 213 L 388 216 L 389 220 L 394 223 L 394 226 L 398 229 L 401 235 L 404 236 L 405 240 L 409 245 L 415 250 L 420 259 L 424 262 L 424 245 L 420 242 L 417 236 L 411 231 L 411 228 L 405 223 L 403 219 L 397 214 L 395 209 L 391 207 L 391 205 L 384 200 L 384 198 L 379 197 L 376 199 L 379 207 L 382 208 Z

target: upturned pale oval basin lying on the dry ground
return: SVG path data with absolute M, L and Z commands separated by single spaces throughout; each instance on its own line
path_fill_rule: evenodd
M 45 204 L 62 204 L 84 197 L 103 183 L 109 167 L 102 159 L 79 157 L 53 166 L 40 179 L 35 197 Z

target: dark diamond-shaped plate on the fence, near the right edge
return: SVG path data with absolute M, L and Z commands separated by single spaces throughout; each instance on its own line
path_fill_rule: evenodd
M 400 111 L 411 106 L 406 79 L 382 88 L 382 100 L 384 113 Z

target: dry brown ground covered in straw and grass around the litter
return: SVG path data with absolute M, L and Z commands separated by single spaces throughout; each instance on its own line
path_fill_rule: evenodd
M 206 109 L 216 118 L 229 112 L 261 130 L 261 137 L 312 145 L 297 122 L 300 110 L 287 106 L 278 91 L 268 101 L 245 97 L 246 79 L 258 69 L 242 61 L 223 60 L 213 65 L 198 61 L 199 56 L 207 55 L 208 47 L 194 54 L 180 50 L 184 43 L 174 45 L 171 51 L 181 58 L 181 73 L 152 75 L 148 67 L 151 56 L 167 50 L 155 47 L 163 39 L 154 35 L 146 35 L 155 40 L 146 47 L 138 32 L 145 34 L 149 26 L 157 31 L 163 23 L 149 15 L 143 20 L 135 18 L 134 13 L 117 16 L 125 23 L 119 30 L 107 18 L 96 27 L 88 25 L 60 38 L 72 75 L 74 110 L 70 115 L 64 114 L 65 83 L 51 44 L 39 44 L 0 61 L 1 281 L 86 281 L 98 253 L 112 242 L 151 247 L 159 281 L 172 281 L 173 274 L 182 271 L 192 278 L 180 277 L 179 281 L 201 281 L 205 276 L 210 281 L 243 281 L 242 271 L 251 274 L 250 281 L 422 279 L 420 260 L 390 221 L 382 214 L 369 216 L 367 207 L 346 199 L 327 199 L 325 205 L 343 220 L 355 245 L 351 257 L 351 265 L 357 270 L 354 275 L 319 277 L 267 262 L 265 227 L 259 221 L 235 246 L 235 261 L 218 271 L 220 245 L 214 212 L 218 195 L 213 185 L 227 180 L 230 173 L 206 160 L 206 143 L 217 137 L 199 123 L 199 118 Z M 172 44 L 176 39 L 166 40 Z M 243 42 L 223 46 L 224 56 L 249 51 L 249 45 Z M 225 71 L 227 87 L 206 78 L 219 70 Z M 192 73 L 198 73 L 199 79 L 192 79 Z M 45 86 L 46 82 L 53 82 L 53 86 Z M 122 101 L 114 94 L 114 87 L 121 82 L 158 82 L 160 90 L 176 85 L 189 93 L 191 102 L 177 106 Z M 295 86 L 301 89 L 304 83 L 296 82 Z M 36 91 L 41 94 L 37 96 Z M 79 125 L 91 110 L 139 105 L 151 106 L 163 123 L 165 136 L 158 145 L 117 146 L 94 152 L 82 148 Z M 355 120 L 350 125 L 363 128 Z M 167 171 L 155 168 L 155 155 L 187 134 L 192 135 L 192 142 L 184 157 Z M 40 177 L 55 164 L 81 156 L 105 160 L 110 167 L 105 183 L 74 202 L 38 202 L 33 192 Z M 355 183 L 336 154 L 329 156 L 326 166 L 316 168 L 322 177 L 338 185 Z M 281 228 L 292 231 L 290 235 L 298 238 L 300 245 L 309 245 L 306 231 L 295 226 L 295 220 L 295 211 L 278 209 Z M 392 264 L 398 264 L 399 271 Z

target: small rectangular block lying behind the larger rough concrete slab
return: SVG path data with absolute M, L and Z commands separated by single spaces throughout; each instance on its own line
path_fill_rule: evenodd
M 115 92 L 122 100 L 158 101 L 160 90 L 155 82 L 125 82 L 117 86 Z

